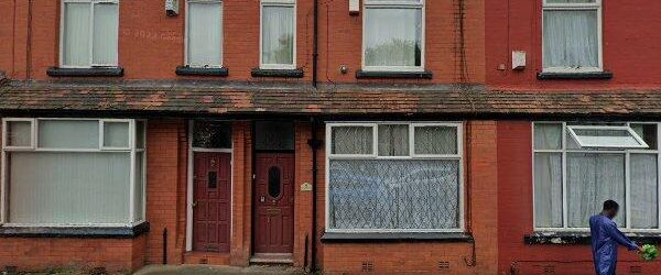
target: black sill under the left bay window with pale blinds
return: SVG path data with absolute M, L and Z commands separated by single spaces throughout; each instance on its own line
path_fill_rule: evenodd
M 0 237 L 4 238 L 82 238 L 82 239 L 131 239 L 149 232 L 149 222 L 133 227 L 11 227 L 1 226 Z

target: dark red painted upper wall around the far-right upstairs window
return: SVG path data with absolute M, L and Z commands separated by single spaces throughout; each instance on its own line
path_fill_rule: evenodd
M 659 87 L 661 28 L 659 1 L 602 1 L 604 69 L 611 80 L 538 80 L 542 69 L 542 1 L 509 0 L 486 2 L 486 79 L 489 86 L 541 89 L 614 89 Z M 511 70 L 511 52 L 525 51 L 527 67 Z M 508 69 L 498 70 L 505 64 Z

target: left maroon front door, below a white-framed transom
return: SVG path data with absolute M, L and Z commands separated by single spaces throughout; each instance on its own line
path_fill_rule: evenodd
M 194 153 L 193 250 L 229 252 L 231 154 Z

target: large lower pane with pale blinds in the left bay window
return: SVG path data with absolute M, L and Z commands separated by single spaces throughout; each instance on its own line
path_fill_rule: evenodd
M 127 223 L 129 167 L 129 153 L 11 153 L 9 221 Z

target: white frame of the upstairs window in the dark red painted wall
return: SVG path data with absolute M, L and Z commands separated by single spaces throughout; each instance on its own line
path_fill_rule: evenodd
M 543 0 L 542 3 L 542 72 L 544 73 L 598 73 L 604 72 L 604 41 L 603 41 L 603 6 L 602 0 L 595 0 L 594 3 L 549 3 L 549 0 Z M 597 62 L 598 67 L 543 67 L 544 62 L 544 12 L 545 11 L 597 11 Z

